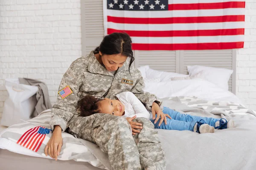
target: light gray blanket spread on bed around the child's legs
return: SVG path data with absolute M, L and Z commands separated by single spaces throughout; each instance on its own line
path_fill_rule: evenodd
M 196 97 L 175 97 L 164 100 L 164 104 L 181 113 L 235 120 L 235 128 L 215 133 L 158 130 L 168 170 L 255 170 L 255 111 L 233 102 L 211 102 Z

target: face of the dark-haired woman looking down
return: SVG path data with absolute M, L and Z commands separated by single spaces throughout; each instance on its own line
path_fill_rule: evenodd
M 108 71 L 116 71 L 119 67 L 122 67 L 127 59 L 127 56 L 122 54 L 107 55 L 99 51 L 102 56 L 102 62 Z

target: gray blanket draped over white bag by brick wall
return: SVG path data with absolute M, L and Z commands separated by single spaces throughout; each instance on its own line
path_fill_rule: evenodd
M 42 111 L 52 108 L 48 88 L 44 82 L 28 78 L 19 78 L 19 81 L 20 84 L 38 86 L 38 92 L 36 93 L 36 99 L 38 102 L 35 105 L 35 111 L 32 113 L 31 118 L 38 116 Z

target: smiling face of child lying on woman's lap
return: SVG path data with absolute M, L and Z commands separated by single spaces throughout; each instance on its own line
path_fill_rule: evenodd
M 100 101 L 101 113 L 107 113 L 114 116 L 122 116 L 125 114 L 125 106 L 119 100 L 104 99 Z

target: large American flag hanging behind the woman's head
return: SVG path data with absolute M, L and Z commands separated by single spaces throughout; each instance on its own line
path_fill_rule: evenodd
M 134 50 L 244 46 L 241 0 L 104 0 L 105 35 L 126 32 Z

